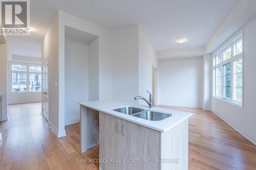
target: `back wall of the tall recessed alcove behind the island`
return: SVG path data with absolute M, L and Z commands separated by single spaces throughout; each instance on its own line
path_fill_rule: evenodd
M 65 125 L 79 122 L 79 102 L 89 99 L 89 47 L 65 37 Z

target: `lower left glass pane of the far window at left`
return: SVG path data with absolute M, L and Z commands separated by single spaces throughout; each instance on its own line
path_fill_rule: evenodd
M 12 73 L 12 91 L 20 92 L 27 91 L 27 75 L 26 73 Z

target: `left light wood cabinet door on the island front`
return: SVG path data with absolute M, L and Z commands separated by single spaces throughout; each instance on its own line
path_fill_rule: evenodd
M 121 119 L 101 112 L 99 113 L 99 158 L 109 161 L 100 163 L 101 169 L 121 169 L 121 163 L 116 163 L 117 159 L 121 159 Z

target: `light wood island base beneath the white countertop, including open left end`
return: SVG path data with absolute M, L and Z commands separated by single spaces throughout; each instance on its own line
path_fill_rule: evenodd
M 98 143 L 103 170 L 188 169 L 188 119 L 161 132 L 80 105 L 81 153 Z

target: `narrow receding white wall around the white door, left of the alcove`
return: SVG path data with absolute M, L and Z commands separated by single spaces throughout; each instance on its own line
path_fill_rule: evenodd
M 58 14 L 54 17 L 50 28 L 48 29 L 44 39 L 42 39 L 41 61 L 49 58 L 49 122 L 57 133 L 58 137 L 65 136 L 65 129 L 59 129 L 59 35 L 58 35 Z M 65 37 L 63 35 L 63 43 Z M 63 70 L 64 74 L 64 70 Z M 57 82 L 57 86 L 55 86 Z M 65 83 L 65 82 L 64 82 Z M 63 84 L 64 84 L 63 83 Z M 65 89 L 61 89 L 65 90 Z M 64 99 L 64 96 L 62 96 Z M 65 101 L 64 101 L 65 102 Z M 64 107 L 62 105 L 61 107 Z M 64 112 L 63 112 L 64 114 Z M 64 115 L 63 115 L 64 118 Z M 65 119 L 63 119 L 63 127 Z

